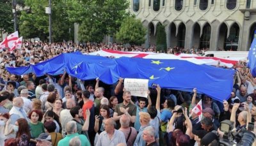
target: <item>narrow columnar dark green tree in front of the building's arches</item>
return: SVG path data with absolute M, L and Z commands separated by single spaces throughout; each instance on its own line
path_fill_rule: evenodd
M 164 52 L 166 48 L 167 45 L 165 28 L 161 24 L 158 24 L 156 28 L 156 50 Z

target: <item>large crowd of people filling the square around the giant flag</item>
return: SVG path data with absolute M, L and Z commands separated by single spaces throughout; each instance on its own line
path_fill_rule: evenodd
M 34 73 L 14 75 L 5 69 L 37 64 L 62 53 L 101 49 L 157 52 L 154 46 L 42 42 L 24 42 L 13 52 L 1 50 L 0 145 L 200 146 L 218 145 L 221 140 L 243 143 L 243 136 L 237 138 L 233 133 L 255 133 L 250 124 L 256 120 L 256 78 L 244 62 L 234 66 L 233 91 L 223 102 L 198 94 L 196 87 L 185 92 L 157 85 L 143 98 L 124 89 L 124 78 L 107 85 L 99 78 L 81 81 L 66 72 L 36 77 Z M 166 53 L 202 54 L 206 50 L 173 47 Z M 193 112 L 200 101 L 202 117 Z M 227 120 L 230 132 L 221 126 Z M 216 137 L 209 140 L 209 135 Z M 253 136 L 246 141 L 250 145 L 255 145 Z

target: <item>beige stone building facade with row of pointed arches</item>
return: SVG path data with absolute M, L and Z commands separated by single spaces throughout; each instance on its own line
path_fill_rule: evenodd
M 246 51 L 256 29 L 255 0 L 131 0 L 129 9 L 147 27 L 145 47 L 163 25 L 167 47 Z

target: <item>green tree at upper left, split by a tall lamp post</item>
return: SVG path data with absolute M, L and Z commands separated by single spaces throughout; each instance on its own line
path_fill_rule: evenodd
M 22 11 L 20 16 L 20 33 L 24 38 L 35 38 L 45 40 L 49 36 L 49 15 L 45 14 L 47 0 L 25 0 L 29 11 Z M 52 1 L 52 40 L 63 41 L 70 38 L 70 28 L 74 24 L 68 19 L 69 6 L 65 0 Z

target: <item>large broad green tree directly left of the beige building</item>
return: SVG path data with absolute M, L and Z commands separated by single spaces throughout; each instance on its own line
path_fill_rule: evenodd
M 104 34 L 115 36 L 129 16 L 127 0 L 69 0 L 68 17 L 79 24 L 80 41 L 102 41 Z

